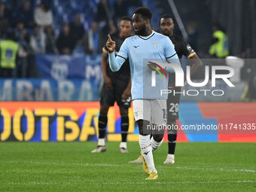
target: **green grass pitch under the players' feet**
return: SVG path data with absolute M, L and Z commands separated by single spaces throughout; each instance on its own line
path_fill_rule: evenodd
M 157 181 L 145 181 L 139 144 L 118 142 L 91 154 L 96 142 L 0 143 L 0 191 L 256 191 L 256 143 L 178 143 L 175 164 L 154 152 Z

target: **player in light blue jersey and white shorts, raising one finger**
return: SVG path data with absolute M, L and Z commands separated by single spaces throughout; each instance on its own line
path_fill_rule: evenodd
M 133 111 L 139 126 L 139 145 L 141 148 L 143 169 L 149 180 L 157 179 L 157 169 L 154 167 L 152 151 L 160 147 L 163 142 L 163 132 L 150 134 L 145 131 L 148 125 L 166 125 L 167 94 L 160 94 L 161 90 L 168 90 L 168 79 L 151 71 L 148 63 L 157 63 L 154 69 L 161 69 L 164 75 L 174 72 L 173 66 L 163 65 L 166 60 L 181 66 L 172 41 L 165 35 L 151 30 L 151 11 L 148 8 L 137 8 L 133 13 L 133 27 L 136 35 L 126 38 L 120 47 L 117 57 L 114 55 L 115 42 L 108 35 L 106 47 L 110 68 L 117 72 L 127 58 L 130 61 L 132 78 Z M 163 66 L 163 67 L 162 67 Z M 157 71 L 158 71 L 157 69 Z M 154 74 L 154 75 L 153 75 Z M 168 73 L 167 73 L 168 74 Z M 152 78 L 154 76 L 154 78 Z

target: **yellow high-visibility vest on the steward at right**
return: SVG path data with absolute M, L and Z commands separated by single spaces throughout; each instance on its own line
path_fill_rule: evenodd
M 215 44 L 212 44 L 210 47 L 210 55 L 215 55 L 218 58 L 224 58 L 228 56 L 228 42 L 227 36 L 222 31 L 215 31 L 213 33 L 213 38 L 218 38 L 218 41 Z

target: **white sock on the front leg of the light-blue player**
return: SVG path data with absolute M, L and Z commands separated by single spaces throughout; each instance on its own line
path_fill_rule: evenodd
M 148 136 L 139 135 L 139 146 L 142 150 L 142 155 L 148 164 L 149 172 L 154 171 L 157 173 L 157 170 L 154 167 L 154 158 L 152 153 L 150 135 Z

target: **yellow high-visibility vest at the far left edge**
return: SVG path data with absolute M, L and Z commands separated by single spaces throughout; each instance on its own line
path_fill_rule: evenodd
M 4 40 L 0 42 L 2 68 L 14 69 L 16 66 L 17 52 L 19 44 L 15 41 Z

